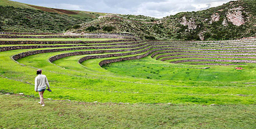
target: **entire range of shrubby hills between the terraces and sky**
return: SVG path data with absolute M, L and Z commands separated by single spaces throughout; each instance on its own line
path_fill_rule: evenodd
M 142 39 L 225 40 L 255 37 L 255 27 L 256 0 L 230 1 L 203 11 L 182 12 L 161 19 L 0 1 L 0 31 L 110 32 L 130 33 Z

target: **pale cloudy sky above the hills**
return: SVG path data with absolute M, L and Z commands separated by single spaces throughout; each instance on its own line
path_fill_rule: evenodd
M 162 18 L 178 12 L 198 11 L 231 0 L 13 0 L 33 5 L 114 14 Z

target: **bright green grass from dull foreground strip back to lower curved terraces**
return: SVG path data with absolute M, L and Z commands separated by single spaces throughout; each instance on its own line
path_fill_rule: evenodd
M 43 74 L 46 74 L 50 80 L 52 89 L 55 91 L 46 97 L 55 99 L 70 99 L 86 102 L 172 102 L 176 104 L 190 103 L 206 105 L 255 103 L 255 87 L 247 87 L 248 84 L 244 84 L 255 82 L 254 67 L 251 68 L 248 66 L 250 69 L 247 70 L 246 68 L 246 70 L 240 72 L 234 70 L 233 67 L 187 70 L 188 68 L 178 68 L 182 67 L 180 64 L 170 64 L 152 59 L 148 56 L 135 60 L 134 62 L 119 62 L 120 66 L 110 67 L 113 70 L 109 69 L 107 71 L 98 65 L 104 58 L 90 59 L 84 61 L 82 65 L 78 63 L 78 60 L 85 55 L 62 58 L 55 61 L 55 65 L 48 61 L 53 55 L 89 50 L 37 54 L 18 60 L 26 66 L 21 66 L 10 59 L 12 55 L 33 50 L 36 49 L 0 53 L 2 61 L 0 64 L 0 74 L 2 77 L 11 79 L 1 78 L 0 90 L 35 95 L 36 92 L 33 92 L 33 81 L 36 76 L 35 71 L 41 68 L 43 69 Z M 110 57 L 108 59 L 111 58 L 119 57 Z M 113 65 L 119 63 L 114 63 Z M 8 64 L 8 67 L 6 64 Z M 168 67 L 174 68 L 170 69 Z M 186 65 L 186 67 L 195 66 Z M 117 71 L 123 73 L 118 73 Z M 128 71 L 133 74 L 129 74 Z M 180 74 L 172 74 L 173 72 Z M 227 73 L 231 78 L 224 76 Z M 241 77 L 236 79 L 235 76 Z M 24 89 L 17 89 L 17 85 L 20 86 L 20 81 L 31 84 L 24 84 Z M 236 94 L 242 94 L 242 96 Z

